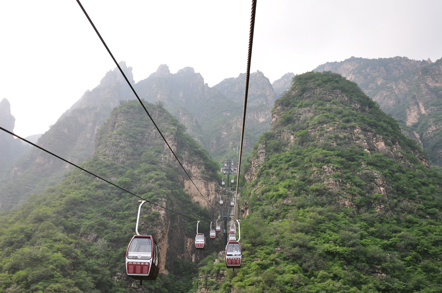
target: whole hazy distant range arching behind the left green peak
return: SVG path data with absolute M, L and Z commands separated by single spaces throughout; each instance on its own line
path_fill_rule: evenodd
M 162 64 L 147 79 L 135 83 L 132 68 L 127 67 L 125 62 L 120 62 L 120 66 L 141 98 L 152 103 L 164 103 L 164 108 L 186 126 L 186 131 L 214 159 L 222 161 L 226 156 L 236 156 L 233 148 L 240 144 L 244 74 L 209 87 L 191 67 L 172 74 L 168 66 Z M 287 79 L 290 76 L 285 75 L 282 79 L 285 82 L 278 83 L 278 89 L 287 86 Z M 91 157 L 97 130 L 108 119 L 110 111 L 118 106 L 119 101 L 134 98 L 118 68 L 108 71 L 99 86 L 87 90 L 39 138 L 38 145 L 71 162 L 84 162 Z M 251 153 L 259 135 L 270 129 L 274 99 L 273 88 L 267 77 L 260 71 L 252 73 L 244 139 L 246 155 Z M 8 141 L 14 142 L 11 139 L 8 137 Z M 0 159 L 0 164 L 4 165 L 3 179 L 0 179 L 0 210 L 8 210 L 23 203 L 28 196 L 42 192 L 47 186 L 60 183 L 64 174 L 72 170 L 69 164 L 49 154 L 18 146 L 2 148 L 8 162 L 5 165 Z M 20 149 L 25 150 L 17 153 Z

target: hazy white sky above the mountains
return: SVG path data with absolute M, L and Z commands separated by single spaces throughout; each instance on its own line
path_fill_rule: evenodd
M 213 86 L 245 72 L 251 1 L 83 0 L 135 81 L 191 66 Z M 2 1 L 1 96 L 15 133 L 42 133 L 115 65 L 75 0 Z M 442 1 L 258 0 L 252 71 L 271 81 L 350 56 L 442 57 Z

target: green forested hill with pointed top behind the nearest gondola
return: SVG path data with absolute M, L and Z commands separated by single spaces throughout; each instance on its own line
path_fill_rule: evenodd
M 161 106 L 146 105 L 166 137 L 173 140 L 183 162 L 188 157 L 193 162 L 200 160 L 205 176 L 215 177 L 217 163 L 185 133 L 183 125 Z M 192 203 L 184 191 L 182 170 L 175 161 L 169 162 L 169 151 L 137 101 L 123 102 L 114 109 L 95 142 L 94 155 L 82 163 L 85 169 L 146 199 L 195 218 L 207 218 L 207 210 Z M 137 200 L 73 170 L 62 184 L 46 188 L 1 214 L 0 292 L 140 290 L 124 273 Z M 156 282 L 145 282 L 145 289 L 187 292 L 197 276 L 189 254 L 193 252 L 186 250 L 187 240 L 194 237 L 195 223 L 148 205 L 142 211 L 141 230 L 152 233 L 163 244 L 162 262 L 169 271 L 168 275 L 160 274 Z

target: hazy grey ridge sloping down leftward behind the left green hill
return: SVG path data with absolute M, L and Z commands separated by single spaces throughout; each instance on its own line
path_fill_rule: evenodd
M 130 80 L 132 68 L 120 63 Z M 120 100 L 132 98 L 133 93 L 118 68 L 107 72 L 100 85 L 84 95 L 67 110 L 39 139 L 47 150 L 79 163 L 94 150 L 95 132 Z M 0 209 L 9 209 L 23 202 L 28 195 L 41 192 L 48 185 L 60 182 L 63 173 L 72 169 L 57 158 L 31 149 L 19 163 L 8 170 L 0 186 Z

